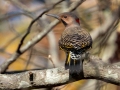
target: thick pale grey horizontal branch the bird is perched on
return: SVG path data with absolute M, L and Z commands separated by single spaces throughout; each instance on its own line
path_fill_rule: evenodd
M 85 54 L 82 57 L 86 57 Z M 120 63 L 105 64 L 99 57 L 87 55 L 83 62 L 83 74 L 81 79 L 98 79 L 112 84 L 120 84 Z M 78 76 L 81 77 L 81 74 Z M 74 82 L 65 68 L 53 68 L 46 70 L 31 70 L 25 72 L 11 72 L 0 74 L 0 89 L 22 89 L 35 87 L 52 87 Z

